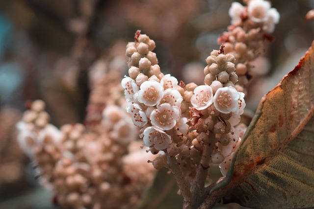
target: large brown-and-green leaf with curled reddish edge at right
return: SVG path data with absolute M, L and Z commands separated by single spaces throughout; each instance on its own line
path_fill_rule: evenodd
M 256 209 L 314 208 L 314 43 L 262 98 L 227 177 L 211 190 L 219 195 Z

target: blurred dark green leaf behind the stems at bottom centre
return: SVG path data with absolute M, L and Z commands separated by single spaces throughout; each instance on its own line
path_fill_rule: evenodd
M 136 209 L 182 209 L 183 197 L 178 195 L 178 186 L 168 169 L 158 171 L 154 183 L 145 192 Z

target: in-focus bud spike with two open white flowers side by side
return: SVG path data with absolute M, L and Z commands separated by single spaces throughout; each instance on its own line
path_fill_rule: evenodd
M 199 134 L 192 143 L 196 149 L 202 144 L 214 144 L 211 162 L 220 164 L 225 176 L 229 167 L 225 166 L 224 161 L 231 159 L 241 141 L 234 126 L 240 122 L 240 115 L 243 114 L 244 93 L 235 88 L 235 57 L 225 55 L 223 45 L 220 51 L 213 50 L 206 62 L 205 85 L 196 87 L 190 100 L 191 129 Z

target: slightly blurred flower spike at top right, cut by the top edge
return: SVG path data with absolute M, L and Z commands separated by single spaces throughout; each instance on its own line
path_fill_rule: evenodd
M 244 87 L 254 74 L 254 66 L 250 64 L 264 52 L 265 40 L 272 41 L 270 35 L 279 22 L 280 15 L 271 8 L 266 0 L 247 0 L 247 6 L 233 2 L 229 10 L 232 25 L 219 38 L 218 43 L 224 44 L 225 53 L 235 56 L 235 72 L 239 86 Z M 243 90 L 245 91 L 245 89 Z

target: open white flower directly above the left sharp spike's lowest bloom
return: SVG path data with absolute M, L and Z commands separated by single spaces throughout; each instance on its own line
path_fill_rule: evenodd
M 157 109 L 152 112 L 150 119 L 152 124 L 161 130 L 170 130 L 175 127 L 179 116 L 180 110 L 177 106 L 164 103 L 157 106 Z

